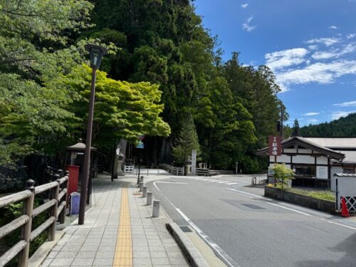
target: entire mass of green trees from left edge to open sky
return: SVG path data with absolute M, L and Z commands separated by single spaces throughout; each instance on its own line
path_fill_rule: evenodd
M 223 61 L 192 1 L 0 0 L 0 21 L 0 178 L 19 175 L 28 155 L 56 161 L 85 137 L 85 43 L 109 48 L 95 103 L 100 152 L 110 157 L 120 139 L 146 135 L 145 159 L 173 162 L 189 120 L 210 167 L 266 167 L 254 152 L 276 133 L 275 77 L 244 66 L 238 52 Z

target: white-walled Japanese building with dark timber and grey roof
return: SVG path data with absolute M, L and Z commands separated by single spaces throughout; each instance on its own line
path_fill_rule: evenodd
M 268 156 L 268 147 L 256 154 Z M 292 185 L 335 191 L 335 173 L 356 173 L 356 138 L 289 137 L 282 141 L 281 156 L 268 157 L 270 167 L 284 163 L 293 169 Z

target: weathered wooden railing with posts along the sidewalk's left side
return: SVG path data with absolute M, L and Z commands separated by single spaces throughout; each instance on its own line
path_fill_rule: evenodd
M 21 240 L 0 257 L 0 266 L 9 263 L 16 255 L 19 255 L 19 267 L 28 266 L 30 243 L 46 229 L 48 229 L 48 241 L 55 239 L 56 222 L 59 219 L 61 224 L 64 223 L 68 199 L 68 172 L 64 173 L 64 177 L 61 177 L 61 173 L 62 171 L 58 170 L 58 173 L 53 175 L 53 182 L 38 187 L 34 187 L 35 182 L 28 179 L 26 190 L 0 198 L 0 208 L 23 201 L 23 214 L 0 228 L 1 239 L 21 227 Z M 50 193 L 49 201 L 33 209 L 35 196 L 43 192 Z M 50 211 L 49 218 L 32 231 L 32 219 L 47 210 Z

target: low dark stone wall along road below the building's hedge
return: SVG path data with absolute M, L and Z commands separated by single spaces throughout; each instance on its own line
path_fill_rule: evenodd
M 318 209 L 319 211 L 325 211 L 330 214 L 336 213 L 334 201 L 315 199 L 313 197 L 304 196 L 303 194 L 295 194 L 274 187 L 265 187 L 265 197 L 306 206 L 310 209 Z

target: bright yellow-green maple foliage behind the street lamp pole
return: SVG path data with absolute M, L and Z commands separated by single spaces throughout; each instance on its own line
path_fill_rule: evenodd
M 91 73 L 88 66 L 78 66 L 53 82 L 77 95 L 71 108 L 83 122 L 88 117 Z M 169 125 L 159 117 L 163 105 L 158 85 L 112 80 L 97 70 L 95 89 L 93 144 L 111 147 L 115 139 L 136 142 L 139 135 L 169 135 Z

